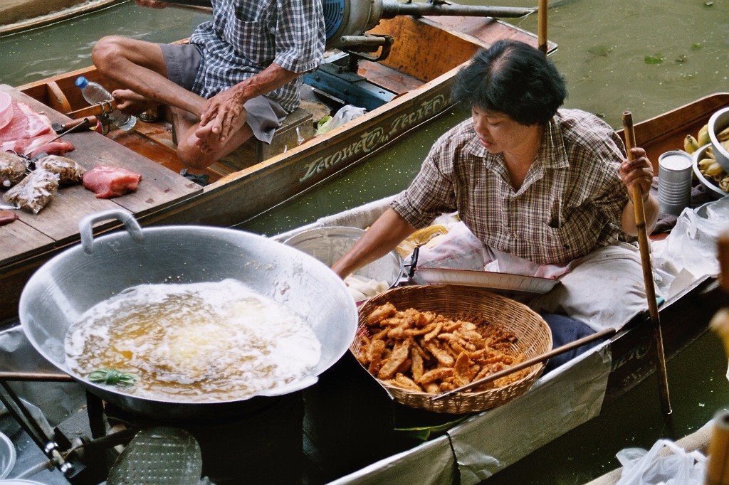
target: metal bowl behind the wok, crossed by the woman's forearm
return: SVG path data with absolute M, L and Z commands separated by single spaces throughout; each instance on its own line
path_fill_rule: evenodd
M 294 234 L 285 240 L 284 244 L 293 246 L 331 267 L 349 251 L 362 234 L 364 229 L 356 227 L 318 227 Z M 402 258 L 393 250 L 377 261 L 357 269 L 354 274 L 386 281 L 389 287 L 392 287 L 402 275 Z

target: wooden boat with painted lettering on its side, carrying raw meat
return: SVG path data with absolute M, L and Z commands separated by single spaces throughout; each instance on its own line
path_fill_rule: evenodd
M 388 92 L 389 101 L 316 137 L 311 136 L 316 120 L 299 109 L 289 115 L 271 146 L 246 143 L 234 152 L 237 158 L 226 157 L 204 170 L 212 181 L 208 186 L 190 184 L 178 175 L 183 166 L 166 121 L 139 122 L 132 132 L 116 130 L 107 138 L 95 133 L 67 135 L 77 146 L 68 154 L 72 159 L 89 168 L 103 159 L 136 170 L 143 181 L 136 194 L 108 201 L 95 200 L 79 187 L 63 189 L 39 214 L 21 213 L 20 221 L 0 227 L 0 286 L 4 288 L 0 321 L 15 315 L 20 291 L 34 269 L 79 241 L 78 221 L 87 214 L 121 205 L 141 224 L 240 223 L 366 159 L 443 113 L 452 105 L 453 76 L 480 47 L 504 37 L 537 45 L 531 33 L 477 17 L 395 17 L 383 20 L 372 32 L 391 34 L 395 43 L 385 60 L 361 60 L 358 73 L 371 86 Z M 550 44 L 550 50 L 554 49 L 555 44 Z M 116 87 L 101 79 L 95 68 L 85 68 L 17 89 L 0 89 L 44 111 L 52 122 L 68 122 L 65 114 L 79 114 L 87 107 L 74 86 L 79 75 L 109 90 Z

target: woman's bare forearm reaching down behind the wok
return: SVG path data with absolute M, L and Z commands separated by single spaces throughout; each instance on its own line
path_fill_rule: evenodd
M 405 221 L 402 216 L 389 208 L 380 216 L 375 224 L 359 238 L 354 246 L 332 269 L 341 278 L 345 278 L 357 269 L 386 255 L 405 237 L 415 232 L 416 228 Z

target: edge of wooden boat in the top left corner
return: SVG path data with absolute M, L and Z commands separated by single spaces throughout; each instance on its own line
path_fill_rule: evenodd
M 124 0 L 18 1 L 0 6 L 0 37 L 112 7 Z

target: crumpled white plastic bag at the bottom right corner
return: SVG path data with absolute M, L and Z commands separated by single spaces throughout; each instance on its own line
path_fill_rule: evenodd
M 668 448 L 671 453 L 661 455 Z M 621 449 L 615 455 L 623 465 L 617 485 L 701 485 L 706 457 L 701 452 L 687 453 L 670 440 L 658 440 L 646 452 L 641 448 Z

